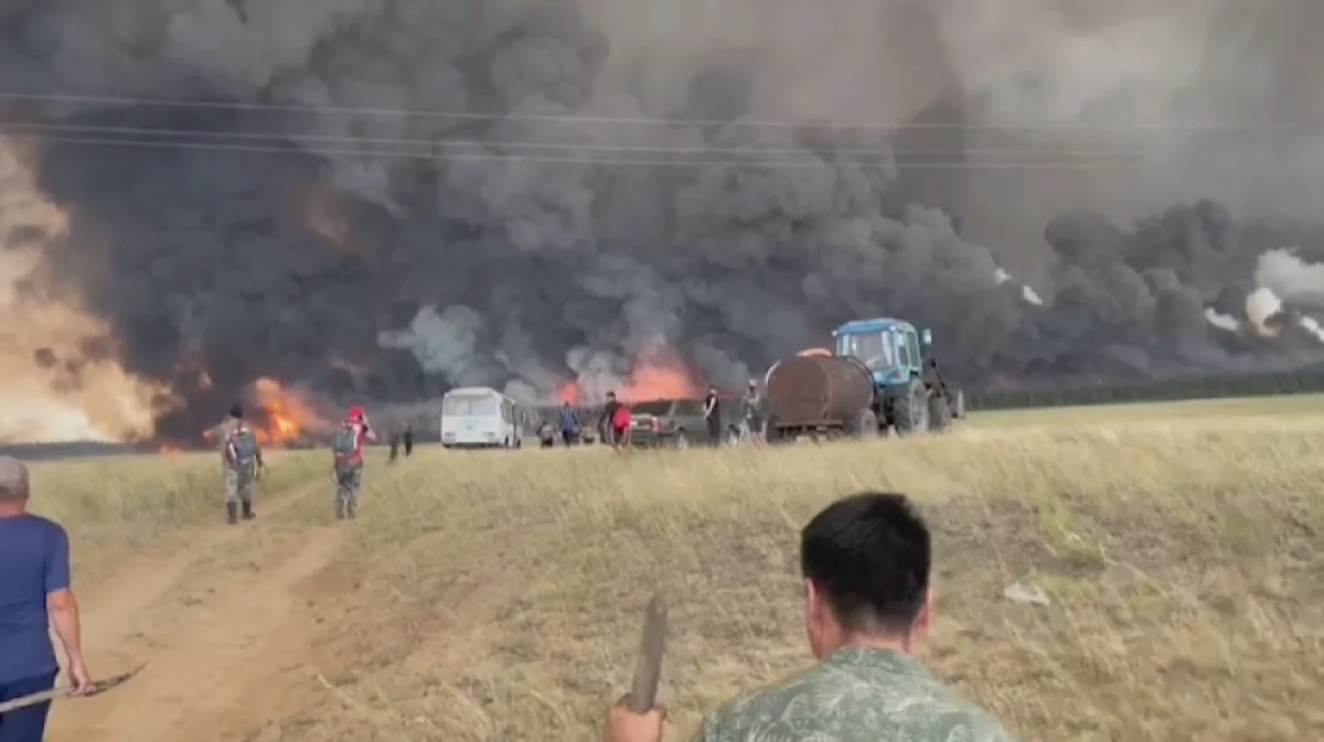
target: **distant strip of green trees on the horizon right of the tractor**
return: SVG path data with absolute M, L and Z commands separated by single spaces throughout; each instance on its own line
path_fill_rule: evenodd
M 1092 385 L 1033 392 L 967 392 L 970 410 L 1172 402 L 1219 397 L 1274 397 L 1324 392 L 1324 373 L 1207 376 L 1125 385 Z

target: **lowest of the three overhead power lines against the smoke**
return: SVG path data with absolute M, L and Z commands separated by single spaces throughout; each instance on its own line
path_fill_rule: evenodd
M 16 139 L 37 139 L 57 144 L 83 144 L 93 147 L 138 147 L 144 149 L 195 149 L 211 152 L 252 152 L 271 155 L 318 155 L 322 157 L 363 156 L 363 157 L 396 157 L 414 160 L 478 160 L 478 161 L 518 161 L 518 163 L 544 163 L 544 164 L 584 164 L 584 165 L 622 165 L 622 167 L 756 167 L 756 168 L 822 168 L 834 163 L 824 160 L 812 152 L 805 152 L 802 160 L 625 160 L 616 157 L 556 157 L 539 155 L 506 155 L 499 152 L 376 152 L 369 149 L 305 149 L 279 145 L 261 144 L 228 144 L 228 143 L 201 143 L 201 142 L 162 142 L 162 140 L 132 140 L 132 139 L 105 139 L 105 138 L 77 138 L 77 136 L 42 136 L 36 134 L 7 134 L 0 128 L 0 135 Z M 859 167 L 879 167 L 891 163 L 843 163 Z M 1096 168 L 1140 168 L 1145 163 L 1140 160 L 1125 161 L 1042 161 L 1042 163 L 903 163 L 907 169 L 1096 169 Z

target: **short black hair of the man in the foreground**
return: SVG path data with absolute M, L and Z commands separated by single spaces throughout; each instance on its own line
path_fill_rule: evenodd
M 847 632 L 907 634 L 924 607 L 932 546 L 904 495 L 859 492 L 800 534 L 800 570 Z

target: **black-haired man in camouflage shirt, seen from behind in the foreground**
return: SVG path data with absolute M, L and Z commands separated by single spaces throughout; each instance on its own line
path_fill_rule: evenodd
M 931 546 L 902 495 L 833 503 L 801 533 L 820 663 L 703 720 L 694 742 L 1013 742 L 912 651 L 932 620 Z M 612 709 L 605 742 L 661 742 L 663 712 Z

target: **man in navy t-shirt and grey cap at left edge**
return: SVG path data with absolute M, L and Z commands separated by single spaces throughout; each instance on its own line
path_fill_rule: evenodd
M 0 456 L 0 702 L 56 686 L 60 665 L 49 628 L 64 644 L 73 693 L 91 689 L 70 585 L 69 534 L 28 513 L 29 481 L 23 462 Z M 49 713 L 50 701 L 0 714 L 0 742 L 41 742 Z

